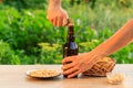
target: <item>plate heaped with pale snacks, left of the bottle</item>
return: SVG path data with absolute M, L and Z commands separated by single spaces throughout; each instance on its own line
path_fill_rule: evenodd
M 28 70 L 25 74 L 33 78 L 54 78 L 61 75 L 58 70 L 53 69 L 32 69 Z

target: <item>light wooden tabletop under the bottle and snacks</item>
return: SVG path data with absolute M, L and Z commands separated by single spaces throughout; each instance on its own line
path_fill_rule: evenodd
M 59 76 L 53 79 L 34 79 L 25 75 L 34 68 L 50 68 L 61 72 L 61 65 L 0 65 L 0 88 L 133 88 L 133 64 L 116 65 L 114 72 L 125 75 L 120 85 L 106 82 L 106 77 L 88 77 L 66 79 Z

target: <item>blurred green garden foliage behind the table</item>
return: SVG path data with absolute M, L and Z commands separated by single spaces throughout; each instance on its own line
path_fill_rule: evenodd
M 0 64 L 61 64 L 66 28 L 47 20 L 48 2 L 0 0 Z M 74 21 L 80 53 L 90 52 L 133 19 L 133 0 L 62 0 L 62 7 Z M 133 43 L 110 57 L 133 64 Z

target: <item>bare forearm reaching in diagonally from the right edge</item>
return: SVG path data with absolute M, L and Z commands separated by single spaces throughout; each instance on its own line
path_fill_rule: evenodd
M 108 56 L 133 41 L 133 20 L 129 21 L 113 36 L 99 45 L 93 52 L 102 56 Z

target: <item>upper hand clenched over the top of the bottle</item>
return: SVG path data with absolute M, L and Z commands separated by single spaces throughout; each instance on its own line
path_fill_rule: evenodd
M 61 7 L 50 7 L 47 18 L 54 26 L 65 26 L 69 15 Z

